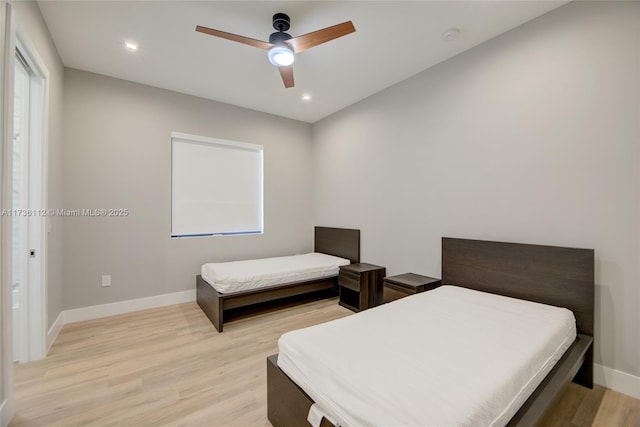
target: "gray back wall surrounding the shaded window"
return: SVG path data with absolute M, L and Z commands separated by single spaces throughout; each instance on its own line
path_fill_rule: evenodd
M 311 249 L 309 124 L 73 69 L 63 116 L 64 207 L 131 212 L 64 218 L 65 309 L 194 289 L 207 261 Z M 172 131 L 264 145 L 263 235 L 170 239 Z

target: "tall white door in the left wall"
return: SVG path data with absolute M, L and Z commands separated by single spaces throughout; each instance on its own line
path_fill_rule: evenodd
M 45 78 L 16 42 L 12 145 L 13 359 L 46 355 Z

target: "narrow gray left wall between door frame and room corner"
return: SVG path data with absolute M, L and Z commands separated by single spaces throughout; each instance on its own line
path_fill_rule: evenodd
M 13 2 L 16 28 L 37 51 L 49 71 L 49 122 L 47 135 L 48 205 L 62 207 L 62 99 L 64 67 L 49 30 L 34 1 Z M 51 218 L 48 234 L 47 317 L 51 326 L 63 310 L 62 304 L 62 219 Z

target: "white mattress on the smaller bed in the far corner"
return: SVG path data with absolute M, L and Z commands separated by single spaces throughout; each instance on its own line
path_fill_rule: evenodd
M 202 278 L 220 293 L 337 276 L 348 259 L 313 252 L 275 258 L 215 262 L 202 266 Z

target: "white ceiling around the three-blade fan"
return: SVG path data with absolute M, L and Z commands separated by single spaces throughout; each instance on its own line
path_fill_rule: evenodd
M 38 2 L 66 67 L 313 123 L 564 1 Z M 296 55 L 285 89 L 266 52 L 195 32 L 268 40 L 276 12 L 292 36 L 351 20 L 356 32 Z M 440 37 L 459 28 L 454 41 Z M 124 49 L 135 41 L 137 52 Z M 301 99 L 303 93 L 313 98 Z

